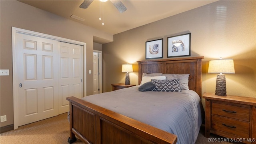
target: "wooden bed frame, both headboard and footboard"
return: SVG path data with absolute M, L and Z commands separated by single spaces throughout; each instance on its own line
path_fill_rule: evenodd
M 144 60 L 139 63 L 142 73 L 190 74 L 189 88 L 202 96 L 202 58 L 187 57 Z M 177 136 L 148 124 L 112 112 L 84 100 L 68 97 L 70 102 L 70 138 L 76 136 L 88 144 L 175 144 Z

